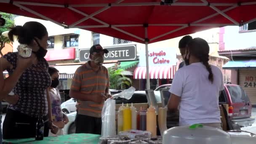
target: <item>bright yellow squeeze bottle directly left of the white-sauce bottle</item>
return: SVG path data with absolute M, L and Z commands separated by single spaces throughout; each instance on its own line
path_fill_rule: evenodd
M 126 104 L 126 107 L 123 109 L 123 131 L 131 130 L 131 109 Z

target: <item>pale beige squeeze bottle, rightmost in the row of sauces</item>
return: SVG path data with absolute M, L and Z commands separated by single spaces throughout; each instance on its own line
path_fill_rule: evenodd
M 160 129 L 161 136 L 163 136 L 163 132 L 167 130 L 166 118 L 167 118 L 167 107 L 158 108 L 158 126 Z

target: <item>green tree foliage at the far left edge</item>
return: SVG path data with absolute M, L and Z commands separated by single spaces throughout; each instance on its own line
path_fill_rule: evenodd
M 0 27 L 0 54 L 1 54 L 1 56 L 3 56 L 1 51 L 4 48 L 5 43 L 11 43 L 11 42 L 8 39 L 8 37 L 4 37 L 2 35 L 2 33 L 9 31 L 10 27 L 14 26 L 15 15 L 10 14 L 10 13 L 3 13 L 3 12 L 0 12 L 0 14 L 2 15 L 2 18 L 5 19 L 5 25 L 3 27 Z

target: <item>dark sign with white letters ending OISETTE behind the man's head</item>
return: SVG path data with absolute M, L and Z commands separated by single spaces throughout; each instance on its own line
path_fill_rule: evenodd
M 117 45 L 111 47 L 104 47 L 109 50 L 105 53 L 105 61 L 128 61 L 136 59 L 136 45 Z M 79 61 L 86 62 L 90 60 L 90 48 L 79 50 Z

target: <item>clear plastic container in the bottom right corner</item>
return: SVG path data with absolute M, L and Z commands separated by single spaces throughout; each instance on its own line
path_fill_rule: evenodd
M 232 144 L 256 144 L 256 135 L 248 131 L 228 131 Z

